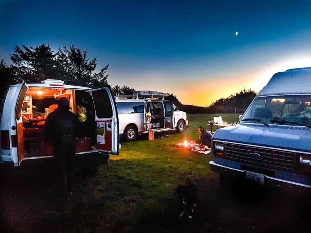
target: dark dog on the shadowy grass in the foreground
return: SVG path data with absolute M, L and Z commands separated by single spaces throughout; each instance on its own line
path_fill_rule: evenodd
M 197 204 L 197 186 L 190 179 L 187 179 L 186 185 L 178 185 L 174 190 L 174 195 L 178 196 L 182 201 L 183 211 L 179 217 L 187 216 L 192 218 L 193 208 Z

